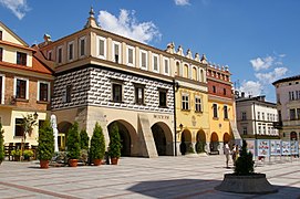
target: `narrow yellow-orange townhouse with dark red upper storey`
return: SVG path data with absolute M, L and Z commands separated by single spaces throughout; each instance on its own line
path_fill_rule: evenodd
M 209 151 L 223 154 L 223 146 L 238 139 L 235 100 L 228 67 L 208 66 Z

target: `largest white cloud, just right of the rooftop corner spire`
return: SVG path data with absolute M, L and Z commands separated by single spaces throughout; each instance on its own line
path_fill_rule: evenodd
M 138 23 L 135 11 L 121 9 L 118 17 L 107 11 L 100 11 L 97 20 L 103 29 L 143 43 L 159 40 L 162 36 L 152 21 Z

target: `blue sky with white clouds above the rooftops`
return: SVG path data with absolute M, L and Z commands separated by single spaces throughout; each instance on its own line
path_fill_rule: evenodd
M 300 74 L 299 0 L 0 0 L 0 20 L 31 45 L 81 30 L 91 6 L 103 29 L 229 65 L 246 94 L 275 102 L 271 82 Z

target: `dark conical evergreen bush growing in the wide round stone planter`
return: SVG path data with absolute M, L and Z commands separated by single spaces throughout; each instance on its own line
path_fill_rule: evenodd
M 251 175 L 255 171 L 254 166 L 252 154 L 247 151 L 247 143 L 242 140 L 241 153 L 236 161 L 235 174 L 241 176 Z

